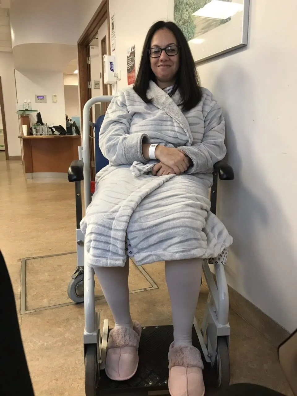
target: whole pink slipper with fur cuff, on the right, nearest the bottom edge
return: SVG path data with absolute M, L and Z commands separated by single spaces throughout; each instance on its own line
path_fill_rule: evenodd
M 204 396 L 203 362 L 194 346 L 170 345 L 168 388 L 171 396 Z

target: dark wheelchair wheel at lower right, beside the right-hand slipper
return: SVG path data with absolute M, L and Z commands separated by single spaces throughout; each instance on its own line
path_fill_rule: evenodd
M 225 389 L 230 383 L 230 359 L 226 337 L 218 337 L 213 370 L 213 385 Z

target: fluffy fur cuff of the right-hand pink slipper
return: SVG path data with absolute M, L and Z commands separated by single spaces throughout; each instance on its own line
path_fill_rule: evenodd
M 204 369 L 200 351 L 194 346 L 181 345 L 175 347 L 174 343 L 172 343 L 169 348 L 168 360 L 169 369 L 174 366 Z

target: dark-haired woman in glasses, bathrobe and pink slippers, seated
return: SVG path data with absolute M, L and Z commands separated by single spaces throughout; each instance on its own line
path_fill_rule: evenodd
M 106 373 L 131 378 L 138 365 L 141 326 L 129 312 L 129 260 L 165 261 L 174 342 L 169 391 L 202 396 L 203 364 L 192 346 L 202 259 L 232 243 L 210 212 L 213 164 L 224 158 L 225 123 L 211 93 L 199 86 L 185 36 L 172 22 L 148 31 L 133 89 L 116 95 L 99 146 L 110 165 L 82 220 L 87 265 L 94 268 L 112 311 Z M 126 244 L 125 244 L 126 242 Z

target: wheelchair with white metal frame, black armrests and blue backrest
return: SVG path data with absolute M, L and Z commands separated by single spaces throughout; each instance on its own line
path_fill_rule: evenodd
M 89 121 L 91 107 L 95 103 L 110 102 L 111 96 L 94 97 L 84 106 L 82 122 L 83 145 L 79 148 L 79 160 L 71 163 L 68 179 L 75 183 L 76 200 L 76 241 L 77 268 L 71 276 L 68 295 L 76 303 L 84 302 L 84 360 L 85 360 L 85 391 L 86 396 L 116 392 L 151 392 L 168 391 L 168 350 L 173 341 L 173 326 L 149 326 L 142 328 L 139 345 L 139 367 L 134 377 L 128 381 L 112 381 L 105 374 L 105 358 L 109 322 L 103 321 L 100 327 L 100 314 L 95 311 L 94 270 L 84 267 L 84 234 L 80 230 L 82 219 L 81 182 L 84 181 L 85 208 L 91 202 L 90 160 L 89 160 L 89 128 L 95 129 L 95 161 L 96 173 L 108 164 L 103 157 L 98 141 L 99 130 L 104 116 L 100 116 L 96 124 Z M 216 213 L 217 183 L 220 180 L 234 179 L 230 166 L 220 161 L 214 166 L 213 186 L 211 188 L 211 211 Z M 91 183 L 92 184 L 92 183 Z M 94 187 L 94 185 L 93 185 Z M 230 382 L 228 323 L 229 297 L 228 286 L 223 265 L 214 265 L 215 279 L 208 261 L 204 261 L 204 276 L 209 295 L 202 326 L 194 319 L 192 329 L 193 345 L 200 349 L 204 361 L 204 382 L 206 386 L 225 388 Z

